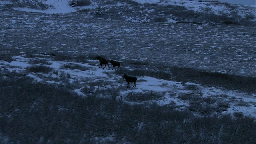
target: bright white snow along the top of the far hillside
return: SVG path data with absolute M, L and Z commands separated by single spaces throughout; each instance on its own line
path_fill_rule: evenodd
M 30 0 L 31 2 L 34 2 L 33 0 Z M 22 11 L 28 11 L 28 12 L 44 12 L 48 14 L 58 14 L 58 13 L 70 13 L 70 12 L 76 12 L 79 9 L 84 9 L 84 8 L 96 8 L 100 4 L 97 3 L 97 0 L 91 0 L 92 4 L 90 6 L 82 6 L 82 7 L 70 7 L 68 2 L 70 0 L 46 0 L 42 1 L 44 4 L 48 4 L 49 6 L 52 5 L 53 7 L 47 9 L 47 10 L 34 10 L 34 9 L 29 9 L 29 8 L 14 8 L 16 10 L 22 10 Z M 159 5 L 176 5 L 176 6 L 185 6 L 186 8 L 198 12 L 202 12 L 204 7 L 209 7 L 212 9 L 212 11 L 216 14 L 219 14 L 221 10 L 225 10 L 224 6 L 220 5 L 211 5 L 211 2 L 198 2 L 198 1 L 192 1 L 192 0 L 134 0 L 140 4 L 159 4 Z M 99 2 L 99 1 L 98 1 Z M 2 1 L 0 2 L 0 5 L 3 4 L 8 4 L 10 3 L 9 0 Z M 120 3 L 115 4 L 116 6 L 120 6 Z M 237 5 L 237 4 L 236 4 Z M 106 5 L 106 6 L 113 6 L 113 5 Z M 243 11 L 246 9 L 244 8 L 244 5 L 238 5 L 240 6 L 239 11 L 240 14 L 246 14 Z M 248 5 L 246 5 L 248 6 Z M 255 5 L 249 6 L 249 7 L 255 7 Z M 226 10 L 225 10 L 226 11 Z M 228 12 L 228 11 L 226 11 Z M 255 12 L 255 9 L 250 12 Z

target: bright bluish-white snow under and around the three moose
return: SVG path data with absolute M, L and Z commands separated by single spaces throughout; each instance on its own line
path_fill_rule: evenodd
M 17 68 L 9 68 L 9 71 L 22 71 L 24 68 L 30 66 L 27 64 L 27 62 L 30 60 L 29 58 L 23 58 L 21 56 L 14 56 L 14 59 L 17 61 L 13 62 L 1 62 L 1 66 L 5 66 L 4 68 L 7 69 L 8 66 L 18 66 Z M 162 80 L 157 78 L 152 78 L 149 76 L 143 76 L 143 77 L 137 77 L 137 85 L 136 88 L 133 88 L 133 83 L 130 83 L 130 88 L 126 88 L 127 82 L 122 79 L 120 76 L 116 76 L 114 74 L 115 70 L 108 70 L 108 69 L 102 69 L 98 68 L 94 63 L 98 63 L 98 60 L 86 60 L 86 62 L 89 62 L 88 64 L 85 63 L 78 63 L 78 62 L 72 62 L 72 64 L 77 64 L 83 67 L 86 67 L 86 70 L 78 70 L 78 69 L 60 69 L 62 65 L 70 64 L 70 62 L 60 62 L 60 61 L 49 61 L 51 65 L 47 65 L 51 68 L 54 68 L 55 72 L 58 72 L 57 74 L 43 74 L 41 76 L 45 78 L 58 78 L 57 81 L 54 80 L 47 80 L 47 83 L 50 84 L 64 84 L 62 82 L 62 78 L 60 77 L 61 74 L 70 74 L 70 77 L 68 78 L 68 82 L 72 83 L 74 81 L 77 81 L 79 84 L 86 84 L 88 80 L 90 82 L 98 82 L 98 81 L 106 81 L 108 80 L 108 84 L 94 86 L 92 90 L 105 90 L 109 88 L 116 88 L 116 80 L 120 80 L 122 82 L 120 85 L 124 87 L 124 90 L 119 91 L 119 95 L 116 97 L 116 99 L 124 100 L 126 95 L 128 93 L 146 93 L 146 92 L 160 92 L 162 96 L 156 100 L 148 100 L 148 101 L 142 101 L 142 102 L 130 102 L 125 101 L 129 104 L 145 104 L 145 103 L 153 103 L 163 106 L 167 104 L 171 104 L 176 106 L 177 110 L 186 110 L 186 107 L 189 106 L 189 102 L 187 100 L 182 100 L 179 97 L 186 95 L 186 94 L 198 94 L 203 97 L 211 97 L 216 100 L 222 100 L 226 101 L 230 104 L 230 107 L 227 109 L 227 111 L 222 112 L 222 114 L 233 114 L 234 112 L 242 112 L 245 116 L 252 116 L 256 117 L 255 114 L 255 106 L 256 106 L 256 95 L 255 94 L 245 94 L 242 92 L 237 92 L 235 90 L 224 90 L 221 88 L 216 87 L 206 87 L 201 86 L 200 84 L 192 83 L 192 82 L 174 82 L 169 80 Z M 97 64 L 98 65 L 98 64 Z M 1 68 L 1 70 L 4 70 L 4 68 Z M 40 78 L 39 76 L 36 76 L 35 74 L 28 74 L 27 76 L 34 78 L 36 82 L 43 82 L 44 80 Z M 60 81 L 58 81 L 60 80 Z M 122 80 L 122 81 L 121 81 Z M 86 83 L 85 83 L 86 82 Z M 190 90 L 187 86 L 195 86 L 192 87 L 192 90 Z M 81 87 L 79 89 L 72 90 L 76 92 L 80 96 L 86 96 L 86 94 L 83 93 L 83 88 Z M 106 97 L 103 95 L 98 95 L 100 97 Z M 108 98 L 108 97 L 106 97 Z M 240 105 L 239 105 L 240 103 Z M 247 106 L 248 105 L 248 106 Z

